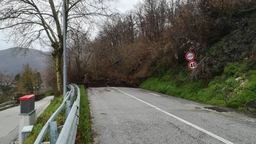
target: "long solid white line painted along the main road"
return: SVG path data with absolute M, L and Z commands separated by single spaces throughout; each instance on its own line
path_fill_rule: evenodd
M 177 117 L 177 116 L 175 116 L 175 115 L 173 115 L 173 114 L 171 114 L 171 113 L 168 113 L 168 112 L 166 112 L 166 111 L 164 111 L 164 110 L 162 110 L 162 109 L 160 109 L 160 108 L 158 108 L 158 107 L 156 107 L 156 106 L 154 106 L 154 105 L 152 105 L 152 104 L 149 104 L 149 103 L 147 103 L 147 102 L 145 102 L 145 101 L 143 101 L 143 100 L 141 100 L 141 99 L 138 99 L 138 98 L 136 98 L 136 97 L 134 97 L 134 96 L 132 96 L 132 95 L 130 95 L 130 94 L 127 94 L 127 93 L 125 93 L 125 92 L 119 90 L 118 88 L 115 88 L 115 87 L 113 87 L 113 88 L 116 89 L 116 90 L 118 90 L 118 91 L 121 92 L 121 93 L 124 93 L 124 94 L 126 94 L 126 95 L 128 95 L 128 96 L 130 96 L 130 97 L 132 97 L 132 98 L 137 99 L 138 101 L 141 101 L 141 102 L 143 102 L 143 103 L 145 103 L 145 104 L 147 104 L 147 105 L 150 105 L 150 106 L 152 106 L 153 108 L 156 108 L 157 110 L 159 110 L 159 111 L 161 111 L 161 112 L 163 112 L 163 113 L 166 113 L 166 114 L 168 114 L 168 115 L 174 117 L 175 119 L 178 119 L 178 120 L 180 120 L 180 121 L 182 121 L 182 122 L 184 122 L 184 123 L 186 123 L 186 124 L 188 124 L 188 125 L 190 125 L 190 126 L 196 128 L 196 129 L 199 130 L 199 131 L 203 131 L 204 133 L 206 133 L 206 134 L 208 134 L 208 135 L 210 135 L 210 136 L 212 136 L 212 137 L 214 137 L 214 138 L 216 138 L 216 139 L 218 139 L 218 140 L 220 140 L 220 141 L 222 141 L 222 142 L 224 142 L 224 143 L 226 143 L 226 144 L 233 144 L 232 142 L 230 142 L 230 141 L 228 141 L 228 140 L 225 140 L 225 139 L 223 139 L 223 138 L 221 138 L 221 137 L 219 137 L 219 136 L 217 136 L 217 135 L 215 135 L 215 134 L 213 134 L 213 133 L 211 133 L 211 132 L 209 132 L 209 131 L 206 131 L 206 130 L 204 130 L 204 129 L 202 129 L 202 128 L 200 128 L 200 127 L 198 127 L 198 126 L 196 126 L 196 125 L 194 125 L 194 124 L 192 124 L 192 123 L 190 123 L 190 122 L 187 122 L 187 121 L 185 121 L 185 120 L 183 120 L 183 119 L 181 119 L 181 118 L 179 118 L 179 117 Z

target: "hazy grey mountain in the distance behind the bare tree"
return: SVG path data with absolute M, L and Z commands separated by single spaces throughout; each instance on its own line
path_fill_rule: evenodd
M 13 49 L 0 50 L 0 71 L 5 72 L 9 75 L 16 75 L 23 70 L 23 65 L 27 63 L 32 69 L 37 69 L 38 72 L 42 73 L 45 69 L 45 54 L 44 52 L 37 49 L 29 49 L 27 55 L 24 57 L 23 52 L 17 53 L 13 56 Z

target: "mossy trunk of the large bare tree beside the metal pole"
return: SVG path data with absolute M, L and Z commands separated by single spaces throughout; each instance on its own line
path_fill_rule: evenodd
M 63 91 L 63 73 L 62 73 L 62 53 L 63 53 L 63 44 L 59 43 L 57 45 L 53 45 L 52 56 L 54 59 L 54 68 L 55 74 L 57 78 L 57 88 L 59 94 L 62 94 Z

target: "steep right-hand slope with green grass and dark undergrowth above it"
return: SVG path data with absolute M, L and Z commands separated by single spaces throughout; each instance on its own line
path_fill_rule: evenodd
M 212 62 L 208 63 L 208 67 L 202 66 L 204 58 L 196 57 L 198 67 L 206 67 L 202 74 L 198 75 L 197 69 L 188 69 L 188 61 L 172 68 L 166 67 L 166 63 L 162 62 L 151 67 L 152 76 L 140 87 L 200 103 L 255 113 L 255 22 L 256 11 L 253 10 L 246 13 L 244 18 L 246 29 L 234 29 L 214 43 L 208 53 L 215 59 L 211 58 Z M 209 67 L 215 75 L 201 76 L 207 73 Z

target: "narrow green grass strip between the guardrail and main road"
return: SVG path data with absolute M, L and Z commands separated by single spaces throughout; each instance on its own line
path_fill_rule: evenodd
M 80 117 L 79 117 L 79 125 L 77 129 L 77 143 L 79 144 L 90 144 L 91 143 L 91 123 L 90 123 L 90 108 L 89 102 L 87 100 L 87 96 L 85 93 L 85 89 L 83 85 L 79 85 L 80 88 Z

